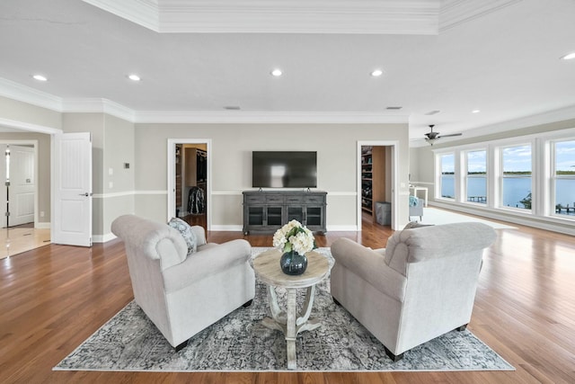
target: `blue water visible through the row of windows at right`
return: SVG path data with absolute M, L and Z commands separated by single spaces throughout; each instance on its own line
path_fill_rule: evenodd
M 555 201 L 566 207 L 575 206 L 575 180 L 557 180 Z M 507 207 L 525 208 L 521 200 L 531 192 L 531 178 L 513 177 L 503 180 L 503 205 Z M 441 196 L 455 197 L 455 177 L 453 175 L 441 176 Z M 470 177 L 467 184 L 467 197 L 487 196 L 487 179 Z M 478 201 L 485 202 L 485 201 Z M 563 212 L 564 213 L 564 212 Z M 572 214 L 573 212 L 571 212 Z

